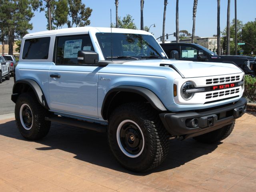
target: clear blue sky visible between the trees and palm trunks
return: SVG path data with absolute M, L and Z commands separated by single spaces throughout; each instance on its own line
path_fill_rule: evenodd
M 115 22 L 116 7 L 114 0 L 82 0 L 86 6 L 92 8 L 90 26 L 109 27 L 110 9 L 112 9 L 112 22 Z M 192 33 L 192 9 L 194 0 L 179 0 L 179 27 L 180 30 L 188 30 Z M 226 26 L 228 0 L 220 0 L 220 30 Z M 230 0 L 230 21 L 234 18 L 234 0 Z M 175 27 L 176 0 L 168 0 L 166 7 L 165 33 L 171 34 Z M 164 0 L 145 0 L 144 3 L 144 26 L 156 24 L 150 28 L 150 32 L 156 38 L 162 35 L 164 12 Z M 46 30 L 46 18 L 44 12 L 35 12 L 32 18 L 33 30 L 38 32 Z M 140 28 L 140 0 L 119 0 L 118 15 L 120 17 L 132 15 L 134 22 Z M 243 23 L 254 21 L 256 18 L 256 0 L 237 0 L 237 18 Z M 66 28 L 66 26 L 64 26 Z M 196 13 L 196 32 L 200 37 L 217 34 L 217 0 L 198 0 Z M 168 40 L 174 40 L 170 37 Z

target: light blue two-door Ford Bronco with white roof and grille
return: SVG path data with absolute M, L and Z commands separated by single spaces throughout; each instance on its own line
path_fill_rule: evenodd
M 168 59 L 152 34 L 80 27 L 22 39 L 12 101 L 18 130 L 46 136 L 51 122 L 107 132 L 125 168 L 161 164 L 170 138 L 213 143 L 246 110 L 233 64 Z

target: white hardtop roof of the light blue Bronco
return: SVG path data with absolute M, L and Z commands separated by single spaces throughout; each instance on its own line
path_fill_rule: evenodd
M 98 32 L 105 32 L 105 33 L 111 32 L 111 28 L 107 28 L 107 27 L 74 27 L 74 28 L 64 28 L 64 29 L 29 33 L 29 34 L 26 34 L 24 37 L 46 35 L 46 34 L 78 33 L 78 32 L 81 32 L 81 33 L 84 32 L 87 34 L 89 30 L 98 30 Z M 143 30 L 121 29 L 121 28 L 112 28 L 112 33 L 132 33 L 132 34 L 150 34 L 151 35 L 151 33 Z

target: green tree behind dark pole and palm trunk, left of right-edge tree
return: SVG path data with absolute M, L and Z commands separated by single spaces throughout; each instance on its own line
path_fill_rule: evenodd
M 237 20 L 237 37 L 238 40 L 242 37 L 242 28 L 243 28 L 243 23 L 240 20 Z M 227 28 L 225 28 L 222 32 L 221 32 L 223 37 L 226 37 L 227 35 Z M 230 41 L 230 54 L 234 55 L 235 54 L 235 20 L 232 20 L 232 23 L 230 24 L 230 38 L 233 38 L 233 41 Z M 224 40 L 222 40 L 223 42 Z M 242 49 L 241 46 L 237 46 L 237 50 Z

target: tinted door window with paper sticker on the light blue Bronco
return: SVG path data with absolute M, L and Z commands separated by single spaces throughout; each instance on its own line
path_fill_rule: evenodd
M 89 35 L 58 37 L 56 64 L 78 64 L 77 54 L 79 50 L 94 51 Z

